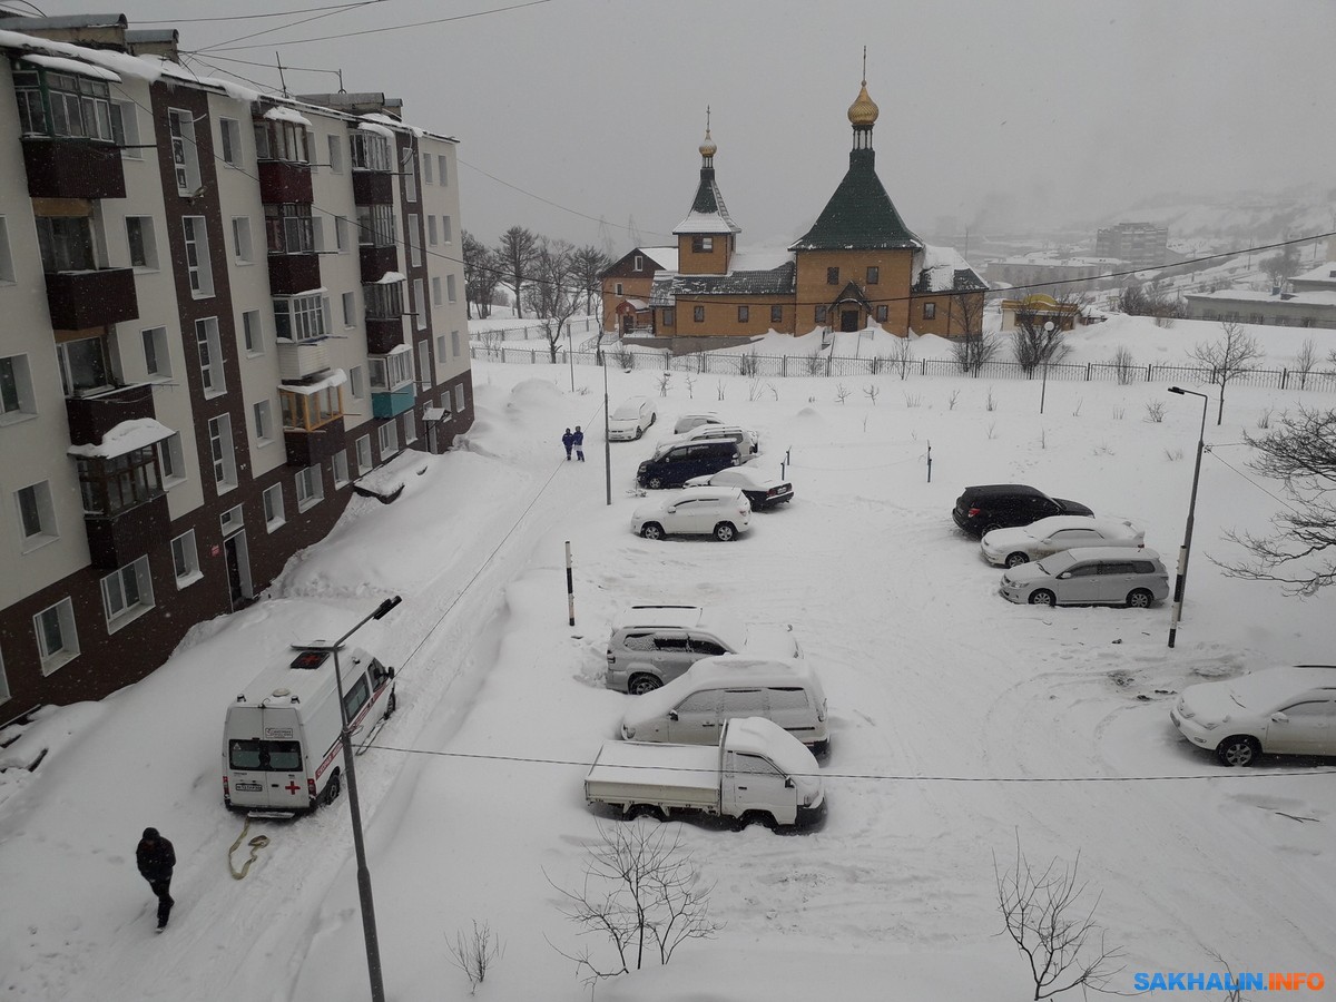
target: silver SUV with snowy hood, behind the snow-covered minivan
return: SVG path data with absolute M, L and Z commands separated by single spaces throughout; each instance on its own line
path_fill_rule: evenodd
M 612 620 L 604 684 L 639 696 L 672 681 L 701 657 L 736 653 L 803 656 L 792 627 L 748 625 L 699 605 L 632 605 Z

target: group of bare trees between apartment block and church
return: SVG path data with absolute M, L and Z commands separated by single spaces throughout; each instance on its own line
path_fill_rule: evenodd
M 597 247 L 576 247 L 569 240 L 549 239 L 522 226 L 512 226 L 501 234 L 494 247 L 488 247 L 468 230 L 462 239 L 464 289 L 470 319 L 474 309 L 481 319 L 490 315 L 501 286 L 510 290 L 516 317 L 524 317 L 528 309 L 540 319 L 556 321 L 556 338 L 574 313 L 597 311 L 601 302 L 599 277 L 612 265 L 608 254 Z

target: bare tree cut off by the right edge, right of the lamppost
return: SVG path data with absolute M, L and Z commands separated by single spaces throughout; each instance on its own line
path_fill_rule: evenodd
M 1289 497 L 1271 518 L 1275 533 L 1225 533 L 1250 557 L 1210 560 L 1230 577 L 1276 581 L 1287 595 L 1313 596 L 1336 582 L 1336 410 L 1300 409 L 1279 425 L 1257 438 L 1244 433 L 1260 453 L 1248 465 L 1279 480 Z

